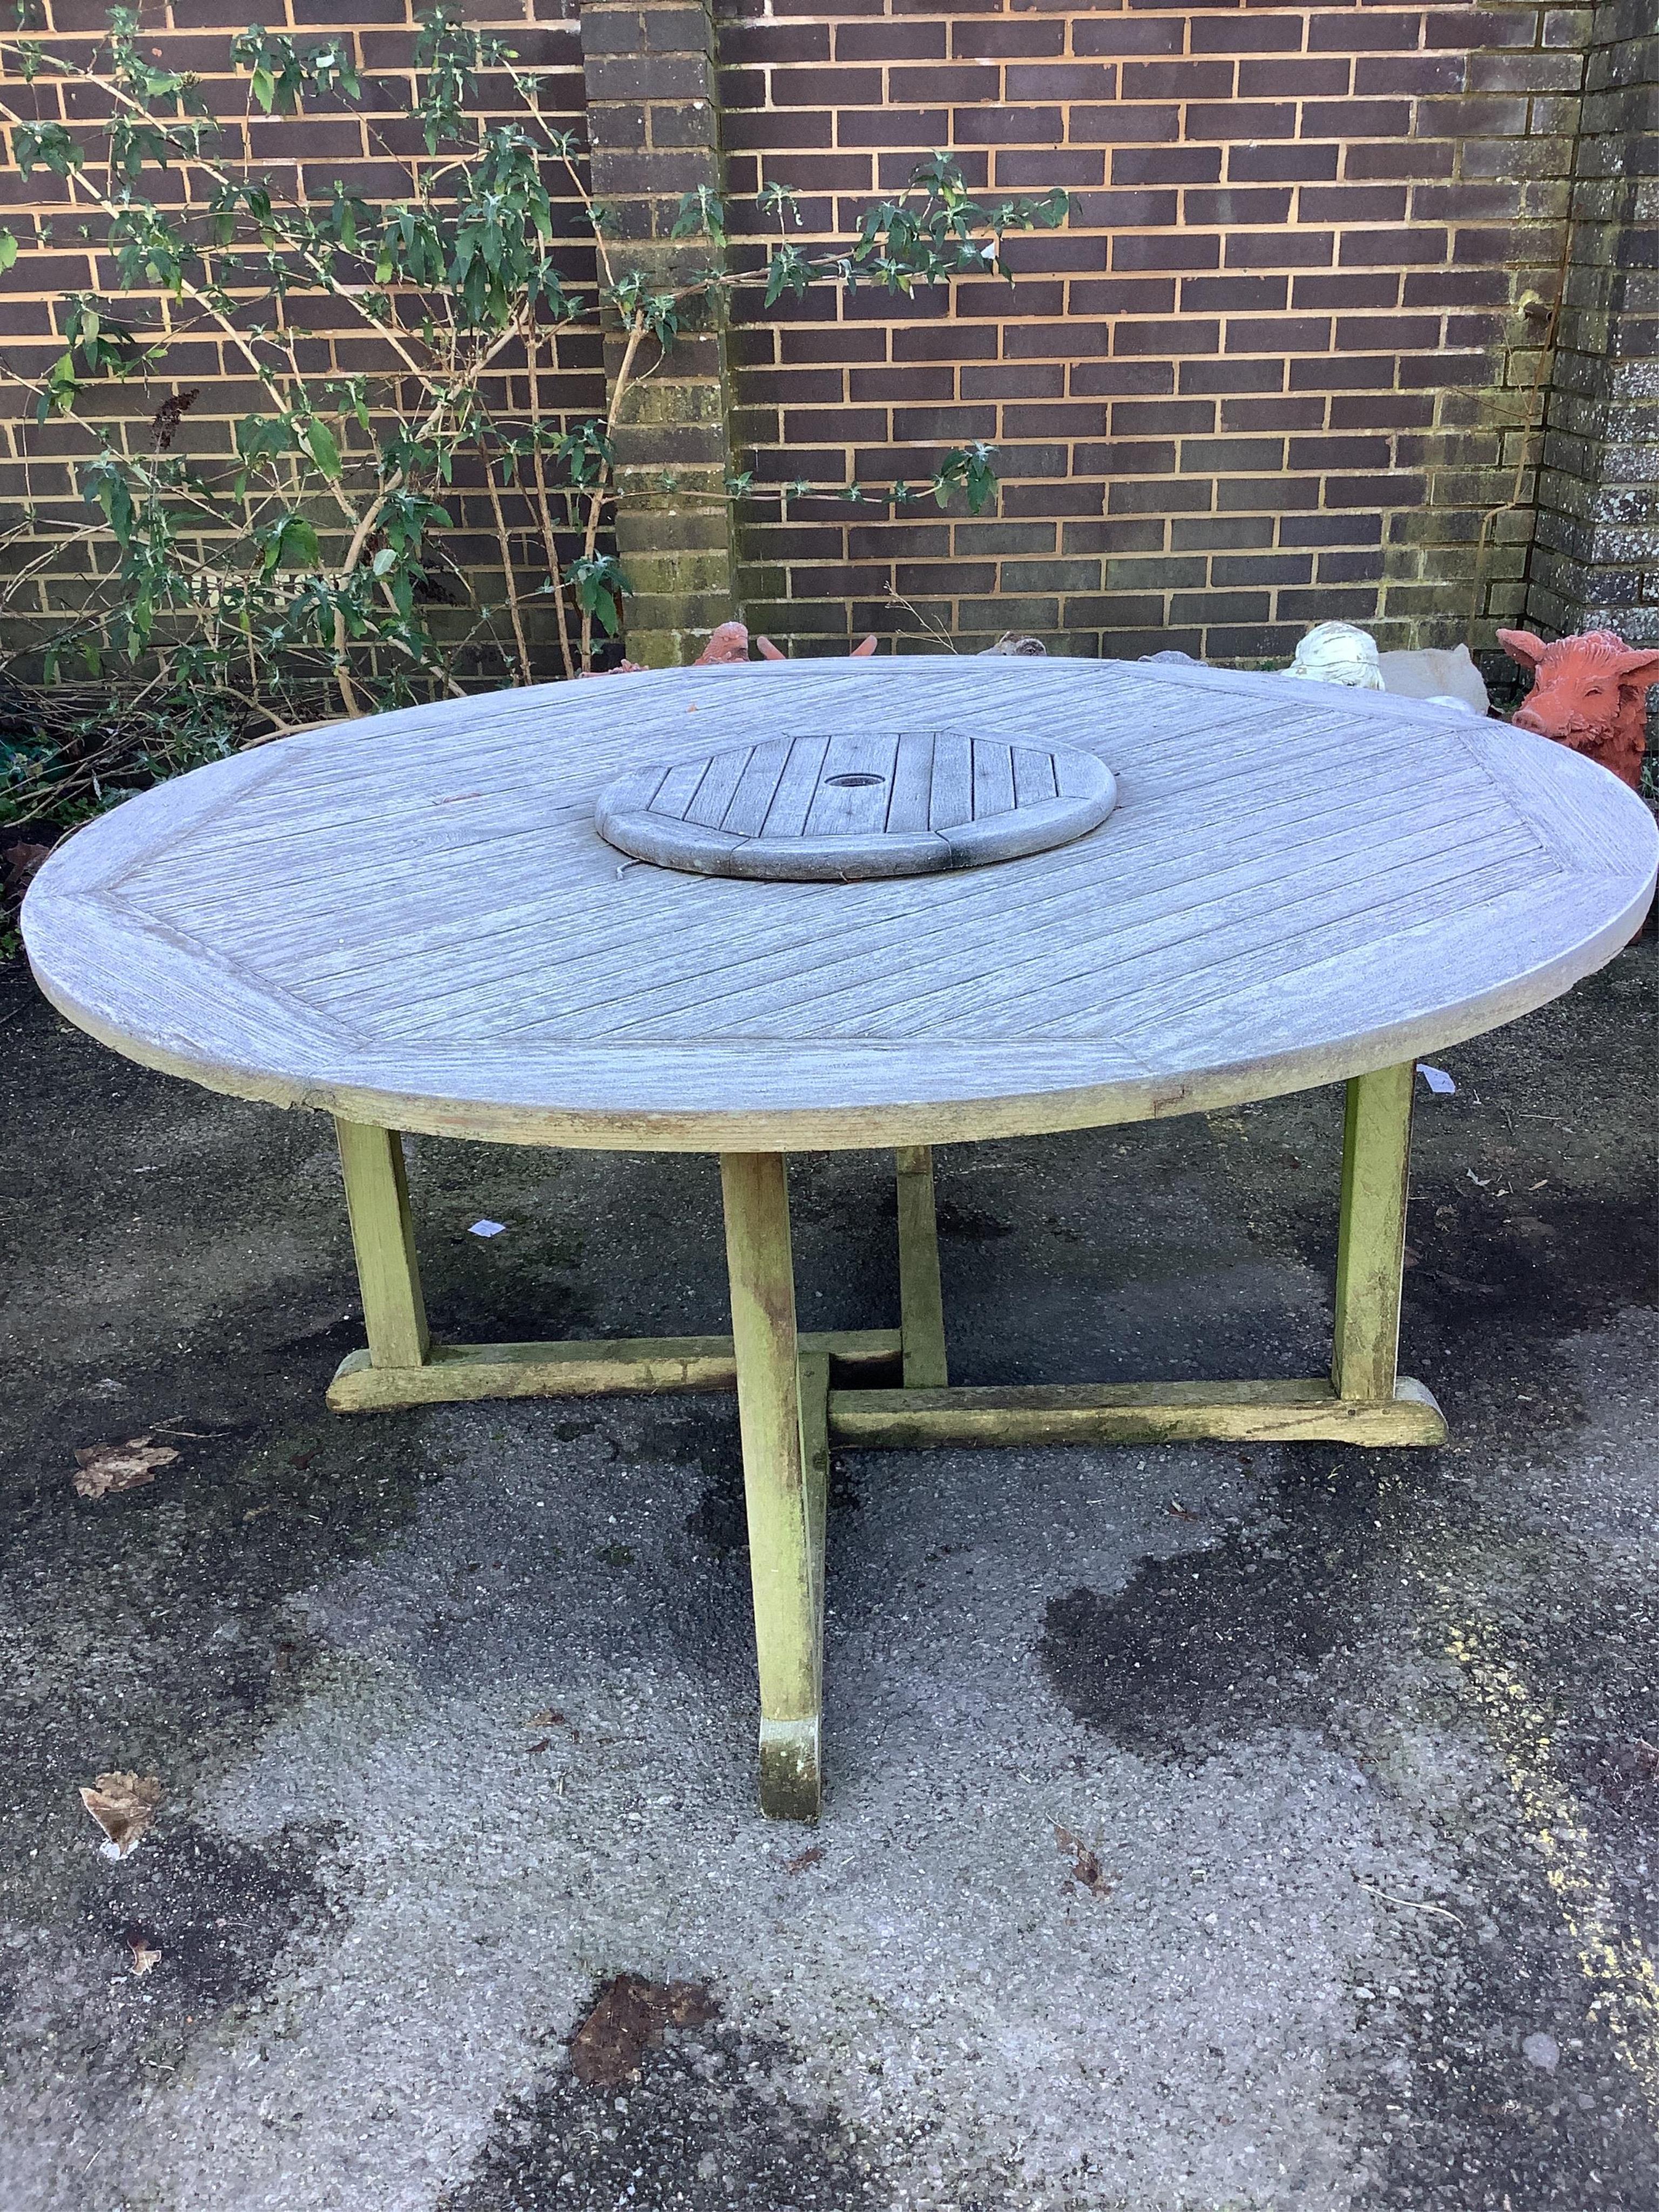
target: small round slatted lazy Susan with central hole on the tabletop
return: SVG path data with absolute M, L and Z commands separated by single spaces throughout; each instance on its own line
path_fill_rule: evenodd
M 593 825 L 695 876 L 869 883 L 1048 852 L 1099 827 L 1115 792 L 1110 768 L 1071 745 L 841 730 L 630 770 L 599 792 Z

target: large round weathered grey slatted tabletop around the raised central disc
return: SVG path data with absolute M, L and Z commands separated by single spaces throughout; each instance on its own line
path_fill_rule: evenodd
M 641 763 L 951 728 L 1110 763 L 1051 852 L 872 883 L 630 863 Z M 898 659 L 491 692 L 283 739 L 126 801 L 24 938 L 82 1029 L 210 1088 L 520 1144 L 794 1150 L 1270 1097 L 1566 991 L 1659 836 L 1495 721 L 1179 664 Z

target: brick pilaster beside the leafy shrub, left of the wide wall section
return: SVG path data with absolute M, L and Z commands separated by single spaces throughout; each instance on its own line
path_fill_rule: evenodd
M 679 197 L 721 190 L 714 24 L 703 0 L 588 0 L 582 9 L 593 195 L 617 274 L 684 281 L 719 257 L 710 239 L 670 239 Z M 606 336 L 615 383 L 622 336 Z M 646 341 L 641 365 L 655 363 Z M 695 659 L 737 613 L 730 389 L 723 319 L 688 314 L 679 343 L 624 396 L 615 429 L 617 553 L 633 597 L 628 657 L 650 668 Z M 672 484 L 664 484 L 664 476 Z

